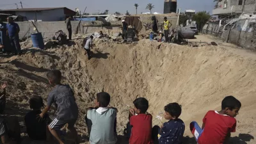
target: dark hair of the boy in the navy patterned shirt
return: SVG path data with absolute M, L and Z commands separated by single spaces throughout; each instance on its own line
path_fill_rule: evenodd
M 170 113 L 172 116 L 176 116 L 176 118 L 179 118 L 181 114 L 181 106 L 178 103 L 173 102 L 164 106 L 164 111 Z

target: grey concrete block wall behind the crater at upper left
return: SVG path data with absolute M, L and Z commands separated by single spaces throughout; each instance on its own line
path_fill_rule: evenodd
M 71 21 L 72 25 L 72 33 L 75 33 L 76 28 L 78 26 L 79 21 Z M 23 38 L 24 36 L 28 36 L 31 33 L 35 33 L 33 24 L 31 22 L 17 22 L 20 26 L 20 38 Z M 79 33 L 85 33 L 87 26 L 83 26 L 84 24 L 89 24 L 89 22 L 81 22 Z M 39 32 L 42 33 L 44 38 L 52 38 L 52 36 L 55 35 L 55 33 L 59 30 L 62 30 L 64 33 L 68 35 L 68 31 L 66 28 L 66 24 L 64 21 L 57 21 L 57 22 L 35 22 L 36 28 Z M 29 30 L 30 29 L 30 30 Z M 87 33 L 94 33 L 95 31 L 100 31 L 104 29 L 120 29 L 120 26 L 89 26 Z

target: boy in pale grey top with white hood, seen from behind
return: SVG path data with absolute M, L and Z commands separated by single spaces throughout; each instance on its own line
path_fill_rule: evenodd
M 86 124 L 91 144 L 115 144 L 116 108 L 108 108 L 110 95 L 106 92 L 97 93 L 95 108 L 88 108 Z

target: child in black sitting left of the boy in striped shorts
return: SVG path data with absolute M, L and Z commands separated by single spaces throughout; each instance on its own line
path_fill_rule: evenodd
M 42 122 L 38 122 L 36 117 L 42 113 L 41 108 L 44 106 L 42 97 L 34 96 L 29 100 L 29 107 L 33 111 L 25 116 L 25 124 L 27 127 L 27 132 L 31 140 L 49 140 L 49 130 L 47 125 L 50 123 L 50 118 L 48 114 L 44 115 Z M 48 138 L 47 138 L 48 137 Z

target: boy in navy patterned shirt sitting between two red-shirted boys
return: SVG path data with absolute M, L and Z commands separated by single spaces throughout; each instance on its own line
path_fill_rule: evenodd
M 180 120 L 181 107 L 176 102 L 164 106 L 165 122 L 159 132 L 159 144 L 180 144 L 182 143 L 185 124 Z

